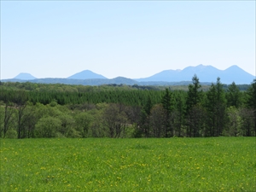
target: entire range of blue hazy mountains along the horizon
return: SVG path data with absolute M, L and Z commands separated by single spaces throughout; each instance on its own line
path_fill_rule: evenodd
M 245 72 L 240 67 L 231 66 L 225 70 L 219 70 L 212 66 L 199 65 L 196 67 L 186 67 L 183 70 L 165 70 L 156 73 L 148 78 L 127 79 L 118 77 L 107 79 L 101 74 L 93 73 L 90 70 L 84 70 L 75 73 L 67 79 L 36 79 L 29 73 L 20 73 L 14 79 L 3 79 L 3 82 L 34 82 L 44 84 L 84 84 L 84 85 L 100 85 L 100 84 L 139 84 L 139 85 L 183 85 L 190 84 L 194 75 L 197 75 L 201 84 L 215 83 L 217 78 L 223 84 L 251 84 L 254 76 Z

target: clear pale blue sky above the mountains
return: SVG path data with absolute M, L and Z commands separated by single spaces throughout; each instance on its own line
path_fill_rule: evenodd
M 89 69 L 145 78 L 199 64 L 255 75 L 254 1 L 1 1 L 1 79 Z

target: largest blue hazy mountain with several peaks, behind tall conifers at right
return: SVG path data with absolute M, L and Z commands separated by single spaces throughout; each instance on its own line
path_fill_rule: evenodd
M 212 66 L 199 65 L 196 67 L 186 67 L 183 70 L 165 70 L 156 73 L 153 76 L 143 79 L 135 79 L 138 82 L 163 81 L 163 82 L 180 82 L 191 81 L 194 74 L 197 75 L 200 82 L 216 82 L 217 78 L 223 84 L 250 84 L 253 82 L 254 76 L 245 72 L 240 67 L 231 66 L 225 70 L 219 70 Z

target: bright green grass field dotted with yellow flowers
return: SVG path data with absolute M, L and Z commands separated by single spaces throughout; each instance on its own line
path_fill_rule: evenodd
M 256 138 L 1 139 L 1 191 L 256 191 Z

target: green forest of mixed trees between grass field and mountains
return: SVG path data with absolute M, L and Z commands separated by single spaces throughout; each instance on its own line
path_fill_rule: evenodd
M 255 137 L 252 84 L 0 82 L 0 137 Z

